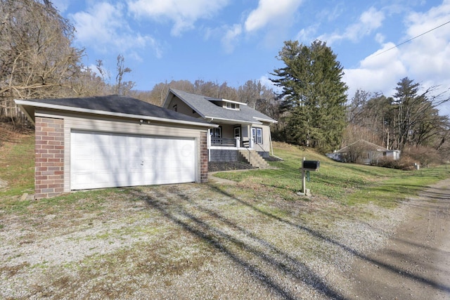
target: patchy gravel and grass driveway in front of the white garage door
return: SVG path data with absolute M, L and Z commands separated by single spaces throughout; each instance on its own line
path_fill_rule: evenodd
M 352 298 L 352 261 L 383 249 L 416 204 L 345 207 L 267 189 L 103 190 L 0 211 L 0 299 Z

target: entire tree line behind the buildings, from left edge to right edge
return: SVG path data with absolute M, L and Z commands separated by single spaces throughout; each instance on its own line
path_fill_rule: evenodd
M 82 64 L 83 48 L 73 46 L 75 27 L 49 0 L 0 0 L 0 118 L 20 121 L 13 99 L 64 98 L 120 94 L 162 105 L 170 88 L 247 103 L 278 120 L 275 140 L 330 152 L 364 139 L 388 149 L 448 157 L 450 123 L 439 115 L 449 101 L 437 87 L 405 77 L 394 95 L 356 91 L 347 96 L 343 67 L 323 41 L 310 45 L 285 41 L 271 72 L 276 91 L 260 81 L 242 86 L 187 80 L 162 82 L 135 91 L 124 56 L 114 74 L 102 60 L 96 70 Z M 424 158 L 425 157 L 425 158 Z M 428 157 L 428 158 L 426 158 Z

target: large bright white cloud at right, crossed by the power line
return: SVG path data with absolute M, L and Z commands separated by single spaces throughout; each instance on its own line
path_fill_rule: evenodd
M 392 42 L 384 44 L 383 48 L 361 60 L 359 67 L 345 70 L 349 97 L 354 96 L 356 89 L 381 91 L 385 96 L 392 96 L 397 82 L 404 77 L 421 84 L 423 89 L 439 86 L 437 93 L 449 89 L 450 24 L 444 25 L 449 22 L 449 15 L 450 0 L 424 13 L 404 15 L 406 35 L 401 40 L 412 40 L 397 47 Z M 439 28 L 433 30 L 436 27 Z M 378 37 L 378 41 L 383 39 Z M 450 104 L 440 110 L 449 115 Z

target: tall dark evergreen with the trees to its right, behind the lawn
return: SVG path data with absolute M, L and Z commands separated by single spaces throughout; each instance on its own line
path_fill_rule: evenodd
M 285 41 L 278 59 L 284 67 L 272 81 L 282 89 L 283 126 L 275 136 L 283 141 L 330 152 L 366 140 L 425 165 L 449 159 L 450 122 L 439 105 L 450 98 L 436 86 L 405 77 L 392 96 L 360 90 L 347 101 L 343 67 L 326 43 Z

